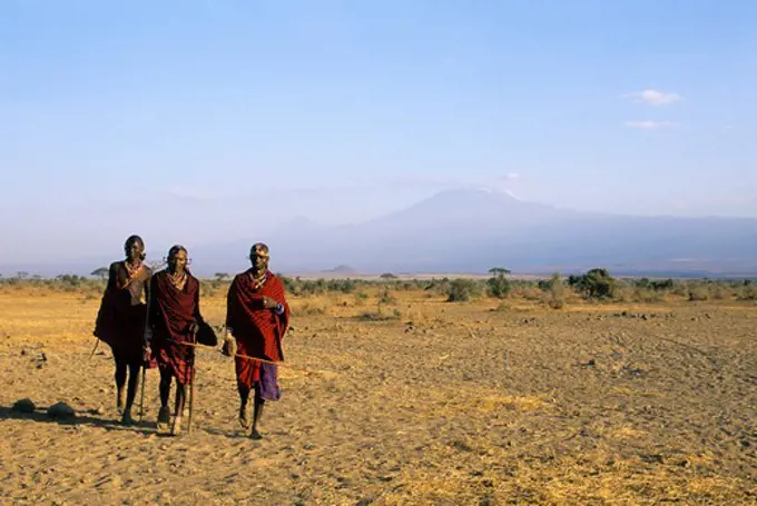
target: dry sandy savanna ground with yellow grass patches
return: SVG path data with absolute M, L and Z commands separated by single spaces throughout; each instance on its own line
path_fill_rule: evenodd
M 217 327 L 227 286 L 201 298 Z M 2 504 L 757 503 L 757 305 L 727 288 L 559 305 L 533 286 L 291 294 L 262 440 L 213 348 L 191 434 L 156 430 L 156 370 L 144 420 L 119 425 L 110 350 L 90 357 L 101 288 L 0 288 Z M 76 415 L 48 416 L 59 401 Z

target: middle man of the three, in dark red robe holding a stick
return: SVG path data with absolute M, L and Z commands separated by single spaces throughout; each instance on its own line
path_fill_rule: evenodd
M 174 246 L 168 251 L 168 267 L 153 276 L 149 307 L 149 341 L 160 370 L 160 411 L 158 428 L 170 421 L 168 398 L 176 378 L 176 414 L 171 435 L 181 431 L 181 416 L 187 385 L 195 376 L 196 334 L 203 317 L 199 311 L 199 280 L 187 269 L 187 250 Z M 187 344 L 189 346 L 187 346 Z

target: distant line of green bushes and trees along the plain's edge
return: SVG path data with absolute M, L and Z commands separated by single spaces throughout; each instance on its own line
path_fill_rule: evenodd
M 572 297 L 587 300 L 613 301 L 662 301 L 675 296 L 687 300 L 757 300 L 757 281 L 750 279 L 650 279 L 615 278 L 607 269 L 591 269 L 581 275 L 567 278 L 554 274 L 550 279 L 521 280 L 512 279 L 504 268 L 492 268 L 488 279 L 471 278 L 434 278 L 400 279 L 387 272 L 380 279 L 302 279 L 278 275 L 287 294 L 293 297 L 312 297 L 327 294 L 350 295 L 366 298 L 366 291 L 378 291 L 384 304 L 392 304 L 396 291 L 424 291 L 430 297 L 444 296 L 451 302 L 466 301 L 474 298 L 491 297 L 497 299 L 525 298 L 543 300 L 553 308 L 561 308 Z M 65 292 L 82 292 L 89 298 L 98 297 L 106 282 L 107 271 L 92 271 L 92 276 L 60 275 L 55 278 L 42 278 L 26 272 L 17 272 L 12 277 L 0 276 L 0 290 L 8 291 L 23 288 L 42 288 Z M 222 295 L 228 289 L 230 277 L 218 272 L 212 279 L 201 279 L 201 295 Z

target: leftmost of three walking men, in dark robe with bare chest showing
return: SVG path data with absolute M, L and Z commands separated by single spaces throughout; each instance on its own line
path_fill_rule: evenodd
M 121 424 L 131 425 L 131 406 L 144 361 L 146 300 L 149 299 L 153 271 L 144 264 L 145 242 L 139 236 L 129 237 L 124 250 L 126 259 L 110 265 L 108 285 L 92 334 L 112 350 L 116 363 L 116 408 L 121 415 Z M 125 399 L 127 370 L 129 385 Z

